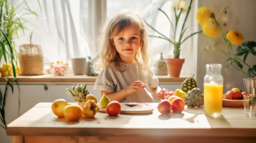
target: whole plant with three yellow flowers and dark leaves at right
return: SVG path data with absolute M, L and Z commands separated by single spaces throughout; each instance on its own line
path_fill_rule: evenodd
M 256 42 L 245 41 L 243 35 L 237 30 L 229 30 L 224 35 L 222 27 L 220 26 L 220 14 L 227 13 L 227 8 L 224 7 L 218 14 L 218 18 L 215 17 L 211 9 L 207 7 L 200 7 L 196 14 L 198 23 L 202 25 L 202 32 L 207 36 L 217 36 L 221 33 L 226 49 L 216 48 L 215 46 L 207 46 L 204 51 L 211 52 L 213 55 L 227 56 L 227 67 L 233 66 L 236 70 L 248 75 L 249 77 L 256 77 L 256 64 L 249 65 L 246 61 L 249 55 L 256 56 Z M 225 25 L 225 24 L 224 24 Z M 234 52 L 232 45 L 238 45 L 236 52 Z M 243 56 L 241 59 L 240 56 Z M 247 71 L 245 71 L 246 69 Z

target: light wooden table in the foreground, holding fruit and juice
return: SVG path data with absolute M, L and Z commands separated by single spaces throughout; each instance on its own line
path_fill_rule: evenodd
M 162 115 L 97 112 L 77 122 L 58 118 L 52 103 L 38 103 L 7 125 L 12 143 L 256 143 L 256 117 L 243 108 L 223 107 L 222 116 L 206 117 L 203 107 Z M 157 107 L 157 103 L 151 103 Z

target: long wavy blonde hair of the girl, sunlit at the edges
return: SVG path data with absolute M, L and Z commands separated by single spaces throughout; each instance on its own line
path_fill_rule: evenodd
M 113 37 L 128 28 L 129 26 L 137 26 L 140 31 L 141 45 L 139 51 L 135 55 L 135 59 L 140 65 L 140 72 L 147 75 L 149 71 L 155 69 L 155 61 L 153 60 L 150 51 L 148 50 L 148 32 L 146 30 L 146 23 L 135 12 L 124 9 L 110 18 L 102 29 L 101 42 L 99 53 L 92 61 L 92 71 L 95 75 L 101 73 L 101 70 L 108 67 L 112 62 L 119 72 L 123 72 L 124 63 L 120 61 L 119 53 L 112 44 Z M 123 66 L 120 66 L 123 65 Z M 120 68 L 122 67 L 122 68 Z

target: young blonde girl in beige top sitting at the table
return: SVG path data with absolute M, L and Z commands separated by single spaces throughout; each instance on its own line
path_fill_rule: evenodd
M 94 72 L 99 75 L 94 90 L 119 102 L 153 102 L 164 99 L 164 88 L 152 71 L 148 33 L 144 20 L 128 10 L 113 16 L 103 29 Z M 147 92 L 150 91 L 150 92 Z M 153 97 L 152 97 L 152 95 Z

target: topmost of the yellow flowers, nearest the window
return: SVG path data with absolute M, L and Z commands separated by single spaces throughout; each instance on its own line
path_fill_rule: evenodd
M 207 20 L 209 19 L 210 15 L 213 12 L 211 11 L 211 9 L 207 8 L 207 7 L 200 7 L 198 9 L 198 12 L 196 13 L 195 17 L 198 20 L 198 23 L 200 25 L 203 25 L 204 22 L 207 22 Z

